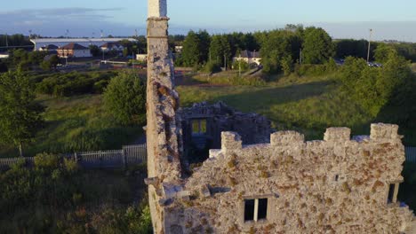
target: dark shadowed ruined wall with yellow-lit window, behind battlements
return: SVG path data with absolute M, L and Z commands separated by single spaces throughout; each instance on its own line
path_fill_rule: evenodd
M 235 131 L 243 138 L 243 144 L 270 142 L 271 122 L 258 113 L 241 113 L 228 105 L 197 103 L 192 107 L 180 108 L 182 138 L 185 153 L 183 160 L 199 162 L 204 157 L 193 155 L 199 152 L 208 157 L 208 149 L 216 149 L 221 144 L 221 132 Z M 195 133 L 198 122 L 204 121 L 206 132 Z M 205 152 L 206 151 L 206 152 Z

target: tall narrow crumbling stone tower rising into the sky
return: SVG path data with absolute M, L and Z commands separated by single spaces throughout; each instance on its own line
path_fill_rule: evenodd
M 148 0 L 147 141 L 148 189 L 153 227 L 163 231 L 164 212 L 158 201 L 163 187 L 180 179 L 178 93 L 173 90 L 173 64 L 168 47 L 166 0 Z

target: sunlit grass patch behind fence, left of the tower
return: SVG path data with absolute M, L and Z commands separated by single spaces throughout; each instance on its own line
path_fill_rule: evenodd
M 142 134 L 140 126 L 122 127 L 102 106 L 100 95 L 71 98 L 38 97 L 46 112 L 45 128 L 35 142 L 24 148 L 25 156 L 38 152 L 79 152 L 119 149 Z M 0 145 L 2 157 L 14 157 L 17 151 L 10 145 Z

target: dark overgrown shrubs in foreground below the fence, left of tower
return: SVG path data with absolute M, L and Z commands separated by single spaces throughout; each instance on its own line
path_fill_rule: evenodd
M 86 172 L 39 154 L 34 168 L 20 163 L 0 174 L 0 232 L 152 233 L 145 177 L 146 167 Z

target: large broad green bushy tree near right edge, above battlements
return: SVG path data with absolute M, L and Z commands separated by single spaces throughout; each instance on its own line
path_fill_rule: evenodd
M 383 67 L 367 66 L 363 58 L 348 57 L 341 69 L 341 81 L 348 94 L 372 117 L 379 116 L 388 105 L 397 106 L 409 99 L 403 95 L 409 91 L 404 90 L 414 87 L 409 63 L 396 52 L 388 54 Z

